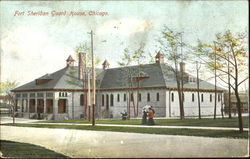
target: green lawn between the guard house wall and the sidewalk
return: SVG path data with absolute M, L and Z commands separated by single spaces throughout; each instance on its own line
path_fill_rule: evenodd
M 249 127 L 249 117 L 243 118 L 243 127 Z M 42 123 L 91 123 L 88 120 L 75 119 L 75 120 L 48 120 L 39 121 Z M 109 120 L 96 120 L 97 124 L 130 124 L 130 125 L 140 125 L 141 119 L 109 119 Z M 203 119 L 191 119 L 187 118 L 184 120 L 180 119 L 155 119 L 156 125 L 168 125 L 168 126 L 205 126 L 205 127 L 238 127 L 238 118 L 203 118 Z

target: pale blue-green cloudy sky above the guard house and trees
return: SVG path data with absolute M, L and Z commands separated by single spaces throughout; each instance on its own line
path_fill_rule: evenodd
M 246 30 L 248 16 L 247 1 L 0 1 L 1 80 L 22 85 L 65 67 L 77 45 L 90 46 L 91 30 L 98 67 L 107 59 L 112 68 L 125 48 L 145 43 L 146 53 L 159 51 L 164 25 L 195 45 L 228 29 Z

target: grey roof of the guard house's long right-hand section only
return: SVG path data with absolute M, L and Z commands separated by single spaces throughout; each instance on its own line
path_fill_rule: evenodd
M 129 66 L 120 68 L 107 69 L 105 75 L 101 81 L 100 88 L 103 89 L 117 89 L 117 88 L 136 88 L 138 87 L 138 82 L 132 80 L 129 82 L 130 77 L 138 76 L 140 71 L 140 77 L 144 76 L 143 80 L 140 80 L 140 87 L 169 87 L 176 88 L 176 77 L 173 68 L 167 64 L 145 64 L 141 66 Z M 184 73 L 184 77 L 194 76 Z M 130 86 L 129 86 L 130 85 Z M 196 82 L 188 82 L 184 80 L 184 88 L 196 89 Z M 214 90 L 214 85 L 200 80 L 200 89 L 211 89 Z M 217 86 L 217 90 L 224 90 Z

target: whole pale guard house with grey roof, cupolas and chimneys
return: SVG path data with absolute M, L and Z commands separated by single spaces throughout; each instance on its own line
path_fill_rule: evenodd
M 80 54 L 78 66 L 70 56 L 65 68 L 46 74 L 14 90 L 16 111 L 25 118 L 79 119 L 90 117 L 91 90 L 88 91 L 85 55 Z M 85 66 L 84 66 L 85 65 Z M 198 116 L 196 78 L 185 72 L 183 85 L 184 112 L 187 117 Z M 140 66 L 109 68 L 105 60 L 102 69 L 96 69 L 96 117 L 120 118 L 122 112 L 140 117 L 142 107 L 152 105 L 156 117 L 178 117 L 178 92 L 173 68 L 164 63 L 158 53 L 155 63 Z M 221 115 L 224 103 L 223 89 L 217 88 L 216 114 Z M 214 85 L 200 80 L 201 115 L 212 116 L 215 106 Z M 129 111 L 130 110 L 130 111 Z M 90 113 L 91 114 L 91 113 Z

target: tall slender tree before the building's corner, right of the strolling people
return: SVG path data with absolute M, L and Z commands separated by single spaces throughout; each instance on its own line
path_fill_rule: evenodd
M 175 79 L 177 84 L 179 107 L 180 107 L 180 119 L 184 119 L 184 103 L 183 103 L 184 79 L 183 79 L 183 71 L 178 67 L 178 64 L 183 62 L 183 60 L 186 58 L 182 54 L 182 47 L 184 45 L 184 43 L 182 42 L 182 33 L 174 32 L 167 26 L 164 26 L 164 29 L 161 33 L 162 33 L 162 38 L 159 40 L 159 42 L 162 46 L 162 50 L 164 51 L 164 55 L 174 65 L 172 71 L 175 74 Z M 178 49 L 181 49 L 181 52 L 179 52 Z

